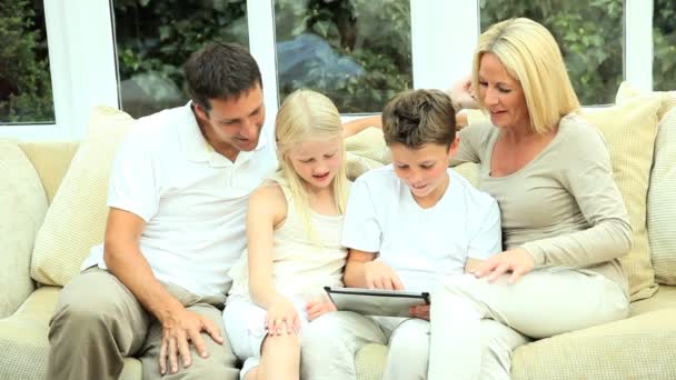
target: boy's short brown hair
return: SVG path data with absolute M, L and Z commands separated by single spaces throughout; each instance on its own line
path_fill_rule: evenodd
M 392 98 L 382 110 L 382 133 L 388 147 L 410 149 L 425 144 L 447 148 L 456 138 L 456 114 L 450 97 L 439 90 L 408 90 Z

